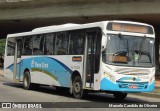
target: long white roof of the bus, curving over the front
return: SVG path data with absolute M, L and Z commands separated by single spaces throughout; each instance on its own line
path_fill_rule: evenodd
M 145 24 L 145 23 L 133 22 L 133 21 L 120 21 L 120 20 L 100 21 L 100 22 L 93 22 L 93 23 L 87 23 L 87 24 L 67 23 L 67 24 L 62 24 L 62 25 L 39 27 L 39 28 L 35 28 L 35 29 L 33 29 L 32 31 L 29 31 L 29 32 L 8 34 L 7 38 L 8 37 L 29 36 L 29 35 L 34 35 L 34 34 L 51 33 L 51 32 L 56 32 L 56 31 L 65 31 L 66 28 L 67 28 L 67 30 L 74 30 L 74 29 L 76 30 L 76 29 L 91 28 L 91 27 L 102 27 L 103 24 L 107 24 L 108 22 L 139 24 L 139 25 L 150 26 L 150 27 L 153 28 L 153 26 L 151 26 L 149 24 Z

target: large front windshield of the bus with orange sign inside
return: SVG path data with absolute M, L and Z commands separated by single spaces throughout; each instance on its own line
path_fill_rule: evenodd
M 128 35 L 107 35 L 104 63 L 131 67 L 154 66 L 154 39 Z

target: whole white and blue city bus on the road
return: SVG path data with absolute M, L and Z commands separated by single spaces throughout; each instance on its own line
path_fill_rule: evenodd
M 68 88 L 75 98 L 88 91 L 128 93 L 154 90 L 155 33 L 151 25 L 101 21 L 36 28 L 7 36 L 4 75 L 24 89 Z

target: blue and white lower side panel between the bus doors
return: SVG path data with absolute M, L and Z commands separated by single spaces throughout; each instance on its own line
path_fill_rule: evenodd
M 30 70 L 31 82 L 69 87 L 71 74 L 82 74 L 83 62 L 72 62 L 72 55 L 22 57 L 22 70 Z M 82 59 L 83 60 L 83 59 Z M 21 74 L 23 78 L 23 74 Z

